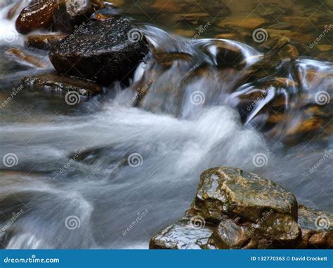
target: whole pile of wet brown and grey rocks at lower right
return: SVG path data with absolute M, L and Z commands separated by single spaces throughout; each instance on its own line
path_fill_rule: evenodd
M 153 236 L 150 248 L 332 248 L 332 225 L 315 227 L 320 215 L 332 220 L 303 206 L 298 212 L 292 193 L 258 175 L 210 168 L 186 216 Z

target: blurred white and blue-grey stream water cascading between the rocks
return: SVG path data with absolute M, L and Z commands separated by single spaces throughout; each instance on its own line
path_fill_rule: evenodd
M 280 15 L 311 12 L 269 2 L 264 10 Z M 152 53 L 130 86 L 116 82 L 74 106 L 61 94 L 21 87 L 23 76 L 45 69 L 8 55 L 23 36 L 6 18 L 13 3 L 1 4 L 0 156 L 7 164 L 0 166 L 0 240 L 7 248 L 148 248 L 152 235 L 185 213 L 200 173 L 214 166 L 268 177 L 299 203 L 333 212 L 329 58 L 303 51 L 249 80 L 266 54 L 259 44 L 211 38 L 221 33 L 215 20 L 243 15 L 252 1 L 223 9 L 223 1 L 161 3 L 119 4 L 117 13 L 136 22 Z M 183 13 L 209 17 L 180 22 Z M 189 36 L 209 19 L 200 39 Z M 237 67 L 228 66 L 226 46 L 242 55 Z M 30 54 L 52 68 L 47 53 Z

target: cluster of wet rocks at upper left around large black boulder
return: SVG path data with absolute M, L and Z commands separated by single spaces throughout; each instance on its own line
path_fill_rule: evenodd
M 63 32 L 27 36 L 25 46 L 49 50 L 49 59 L 61 75 L 25 77 L 25 85 L 57 91 L 74 88 L 82 95 L 92 95 L 101 92 L 100 86 L 89 90 L 86 80 L 108 84 L 131 76 L 148 53 L 148 43 L 142 32 L 127 20 L 103 15 L 91 17 L 98 8 L 105 8 L 98 0 L 34 1 L 23 8 L 16 20 L 18 32 L 28 34 L 37 29 Z

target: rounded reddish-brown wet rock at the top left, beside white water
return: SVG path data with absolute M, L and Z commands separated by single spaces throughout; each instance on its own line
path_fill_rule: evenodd
M 28 34 L 37 29 L 48 29 L 53 24 L 53 11 L 56 0 L 34 1 L 23 8 L 16 20 L 16 29 L 20 34 Z

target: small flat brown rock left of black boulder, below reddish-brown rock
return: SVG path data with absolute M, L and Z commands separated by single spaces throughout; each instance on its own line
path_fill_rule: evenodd
M 66 34 L 30 35 L 25 39 L 25 47 L 49 51 L 51 46 L 54 46 L 55 43 L 63 40 L 66 36 Z

